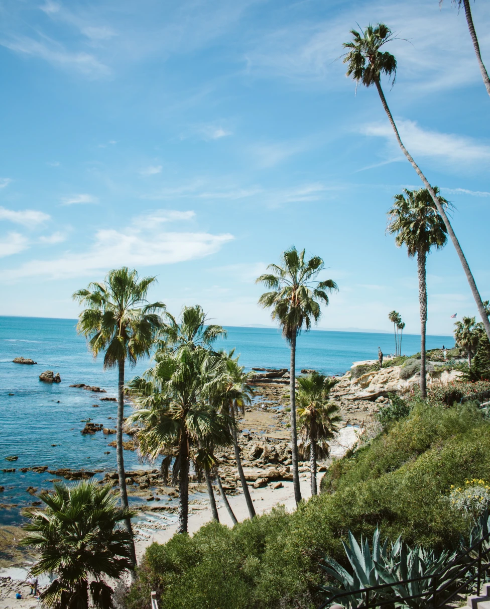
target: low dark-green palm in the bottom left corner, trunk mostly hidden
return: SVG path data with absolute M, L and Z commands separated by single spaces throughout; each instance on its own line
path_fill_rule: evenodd
M 117 507 L 111 485 L 96 481 L 55 483 L 54 495 L 39 498 L 44 510 L 29 510 L 21 544 L 40 554 L 33 575 L 57 574 L 41 594 L 43 606 L 85 609 L 91 597 L 91 607 L 113 607 L 113 590 L 105 582 L 133 569 L 133 537 L 124 524 L 136 513 Z

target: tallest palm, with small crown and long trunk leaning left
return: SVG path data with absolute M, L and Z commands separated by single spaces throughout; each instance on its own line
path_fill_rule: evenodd
M 390 121 L 391 127 L 393 128 L 394 134 L 396 136 L 396 140 L 402 152 L 404 153 L 405 157 L 407 157 L 408 161 L 410 161 L 411 166 L 415 169 L 415 171 L 421 178 L 422 183 L 424 183 L 425 188 L 427 188 L 430 193 L 430 196 L 432 197 L 433 202 L 435 203 L 437 211 L 444 220 L 444 225 L 446 226 L 447 234 L 449 234 L 452 244 L 454 245 L 456 252 L 458 253 L 458 257 L 460 258 L 461 265 L 463 266 L 463 270 L 466 275 L 466 279 L 469 283 L 471 292 L 473 294 L 473 298 L 475 299 L 475 303 L 478 308 L 478 313 L 480 314 L 483 325 L 485 326 L 486 335 L 490 340 L 490 321 L 485 315 L 485 309 L 483 308 L 483 303 L 481 302 L 481 297 L 480 293 L 478 292 L 477 284 L 475 283 L 467 260 L 464 257 L 464 253 L 461 249 L 460 243 L 458 242 L 458 239 L 449 222 L 449 218 L 447 217 L 446 212 L 444 211 L 443 204 L 439 200 L 432 186 L 429 184 L 429 180 L 427 180 L 418 164 L 415 163 L 410 153 L 408 153 L 408 150 L 402 143 L 400 134 L 398 133 L 398 129 L 393 120 L 393 116 L 391 115 L 390 108 L 388 108 L 387 100 L 381 87 L 382 74 L 392 77 L 391 82 L 393 84 L 396 79 L 396 59 L 388 51 L 382 51 L 382 46 L 393 40 L 393 33 L 391 32 L 390 28 L 384 23 L 378 23 L 376 26 L 369 25 L 368 27 L 366 27 L 365 31 L 362 34 L 356 32 L 355 30 L 351 30 L 351 34 L 353 40 L 351 42 L 343 44 L 344 48 L 348 49 L 348 52 L 345 54 L 343 60 L 344 63 L 348 63 L 347 76 L 351 76 L 352 79 L 354 79 L 357 83 L 360 82 L 366 87 L 369 87 L 371 85 L 376 86 L 381 103 L 383 104 L 383 108 L 387 113 L 388 120 Z

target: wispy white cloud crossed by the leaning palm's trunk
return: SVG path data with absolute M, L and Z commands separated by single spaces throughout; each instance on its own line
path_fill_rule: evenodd
M 444 158 L 453 163 L 478 163 L 490 160 L 490 147 L 472 138 L 452 133 L 424 130 L 414 121 L 396 121 L 402 142 L 415 158 Z M 393 129 L 388 121 L 371 123 L 360 128 L 361 133 L 387 139 L 396 148 Z M 401 154 L 401 153 L 400 153 Z

